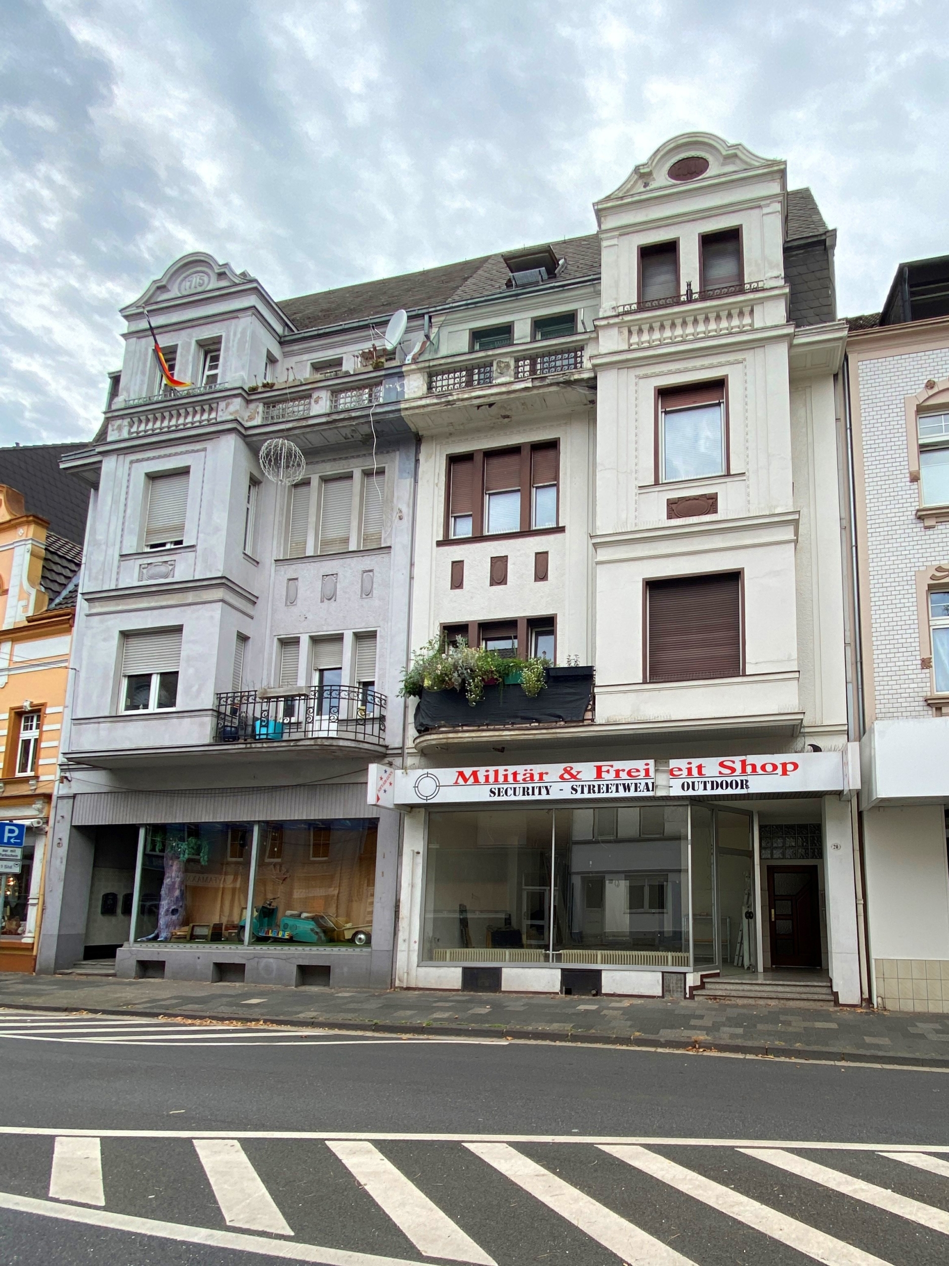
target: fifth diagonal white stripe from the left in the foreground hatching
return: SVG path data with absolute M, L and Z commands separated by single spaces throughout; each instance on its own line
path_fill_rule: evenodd
M 701 1200 L 702 1204 L 711 1205 L 720 1213 L 726 1213 L 736 1222 L 743 1222 L 747 1227 L 760 1231 L 766 1236 L 771 1236 L 772 1239 L 777 1239 L 790 1248 L 796 1248 L 815 1261 L 825 1262 L 826 1266 L 881 1266 L 882 1263 L 881 1257 L 864 1253 L 862 1250 L 854 1248 L 853 1244 L 844 1243 L 843 1239 L 835 1239 L 834 1236 L 828 1236 L 803 1222 L 788 1218 L 767 1204 L 759 1204 L 731 1188 L 723 1186 L 721 1182 L 712 1182 L 711 1179 L 696 1174 L 695 1170 L 687 1170 L 683 1165 L 677 1165 L 676 1161 L 649 1152 L 644 1147 L 614 1147 L 609 1143 L 599 1146 L 600 1151 L 609 1152 L 610 1156 L 625 1161 L 626 1165 L 642 1170 L 643 1174 L 649 1174 L 661 1182 L 676 1188 L 677 1191 L 683 1191 L 686 1195 Z

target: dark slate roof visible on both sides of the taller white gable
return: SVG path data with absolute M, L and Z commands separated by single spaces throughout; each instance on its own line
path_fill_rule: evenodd
M 786 248 L 796 242 L 803 243 L 809 238 L 824 239 L 822 251 L 796 258 L 791 267 L 788 281 L 792 290 L 792 319 L 798 325 L 834 320 L 836 315 L 826 233 L 828 225 L 810 189 L 788 190 Z M 558 280 L 572 281 L 578 277 L 600 276 L 600 238 L 596 233 L 564 238 L 561 242 L 544 242 L 535 247 L 520 247 L 516 253 L 543 251 L 548 244 L 553 247 L 558 258 L 566 261 L 557 275 Z M 515 252 L 499 251 L 459 263 L 424 268 L 421 272 L 406 272 L 380 281 L 363 281 L 354 286 L 339 286 L 337 290 L 321 290 L 297 299 L 283 299 L 280 306 L 299 330 L 368 320 L 372 316 L 385 320 L 399 308 L 405 308 L 407 311 L 425 311 L 444 304 L 463 303 L 466 299 L 480 299 L 505 291 L 510 272 L 504 257 L 512 253 Z

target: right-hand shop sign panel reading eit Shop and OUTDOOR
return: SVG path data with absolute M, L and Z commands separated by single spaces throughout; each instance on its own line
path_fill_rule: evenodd
M 695 756 L 669 762 L 669 795 L 764 795 L 843 791 L 840 752 Z

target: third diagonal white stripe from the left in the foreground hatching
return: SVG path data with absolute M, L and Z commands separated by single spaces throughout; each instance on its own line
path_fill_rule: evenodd
M 387 1160 L 372 1143 L 328 1143 L 402 1234 L 426 1257 L 496 1266 L 483 1248 Z

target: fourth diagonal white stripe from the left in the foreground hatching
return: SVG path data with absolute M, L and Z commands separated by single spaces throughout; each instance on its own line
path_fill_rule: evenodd
M 690 1257 L 682 1257 L 507 1143 L 466 1143 L 466 1147 L 629 1266 L 693 1266 Z

